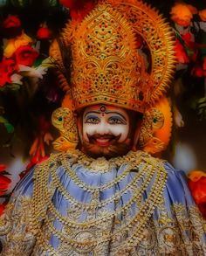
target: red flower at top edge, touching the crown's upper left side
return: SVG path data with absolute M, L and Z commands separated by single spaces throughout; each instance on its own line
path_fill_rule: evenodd
M 82 20 L 90 10 L 93 10 L 94 2 L 94 0 L 59 0 L 59 3 L 69 8 L 71 17 L 76 20 Z

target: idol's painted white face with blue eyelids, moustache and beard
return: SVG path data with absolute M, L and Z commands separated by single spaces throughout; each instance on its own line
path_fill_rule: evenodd
M 82 122 L 83 150 L 88 155 L 112 157 L 129 150 L 129 115 L 125 109 L 107 105 L 86 107 Z

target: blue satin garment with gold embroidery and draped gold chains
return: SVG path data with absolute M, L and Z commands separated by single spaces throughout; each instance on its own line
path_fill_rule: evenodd
M 52 155 L 17 185 L 1 255 L 206 255 L 181 171 L 141 151 Z

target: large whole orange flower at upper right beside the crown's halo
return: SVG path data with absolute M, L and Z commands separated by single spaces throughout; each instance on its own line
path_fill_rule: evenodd
M 185 3 L 175 3 L 175 6 L 172 7 L 170 14 L 171 19 L 179 25 L 189 26 L 190 21 L 193 17 L 193 13 L 196 8 L 192 5 Z

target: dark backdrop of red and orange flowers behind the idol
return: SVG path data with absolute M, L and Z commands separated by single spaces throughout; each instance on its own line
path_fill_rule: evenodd
M 169 92 L 174 133 L 162 157 L 176 168 L 204 173 L 206 3 L 147 2 L 163 13 L 176 36 L 178 64 Z M 68 18 L 81 19 L 94 3 L 94 0 L 0 1 L 0 197 L 4 202 L 0 211 L 17 180 L 51 154 L 51 142 L 57 136 L 51 114 L 60 106 L 64 92 L 58 86 L 49 57 L 52 39 L 58 37 Z M 189 176 L 190 188 L 202 208 L 206 179 L 203 173 L 197 172 L 195 179 Z M 199 200 L 200 190 L 204 193 L 203 200 Z

